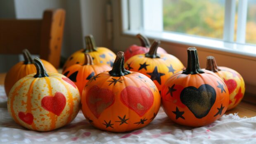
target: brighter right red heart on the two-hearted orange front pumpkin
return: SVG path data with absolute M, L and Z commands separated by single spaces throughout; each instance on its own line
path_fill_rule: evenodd
M 145 86 L 128 86 L 121 91 L 121 101 L 142 117 L 153 105 L 153 93 Z

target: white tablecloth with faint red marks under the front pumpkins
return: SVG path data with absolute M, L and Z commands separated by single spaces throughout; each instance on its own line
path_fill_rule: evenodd
M 27 144 L 50 142 L 77 143 L 137 143 L 137 144 L 256 144 L 256 117 L 239 118 L 224 115 L 205 127 L 184 127 L 173 123 L 160 109 L 146 127 L 126 133 L 112 133 L 92 127 L 80 111 L 71 124 L 52 132 L 35 132 L 17 125 L 6 108 L 7 97 L 0 86 L 0 143 Z

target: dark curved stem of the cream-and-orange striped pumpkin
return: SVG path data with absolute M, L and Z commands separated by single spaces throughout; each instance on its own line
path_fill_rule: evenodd
M 43 78 L 49 76 L 45 70 L 45 66 L 38 57 L 34 59 L 33 63 L 36 66 L 36 75 L 34 76 L 34 78 Z

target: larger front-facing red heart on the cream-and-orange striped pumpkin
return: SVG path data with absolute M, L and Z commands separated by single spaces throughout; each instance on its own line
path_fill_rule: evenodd
M 66 106 L 66 97 L 61 92 L 56 92 L 54 97 L 46 96 L 42 99 L 41 105 L 47 111 L 59 116 Z

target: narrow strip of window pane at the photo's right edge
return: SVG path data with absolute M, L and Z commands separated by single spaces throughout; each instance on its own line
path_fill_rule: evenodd
M 256 0 L 248 0 L 246 42 L 256 43 Z

